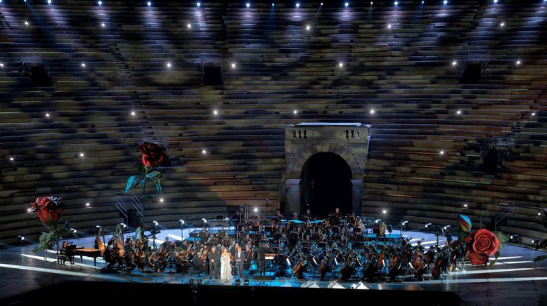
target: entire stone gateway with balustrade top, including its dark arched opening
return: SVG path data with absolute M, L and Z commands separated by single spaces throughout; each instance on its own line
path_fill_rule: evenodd
M 361 213 L 370 125 L 303 123 L 285 128 L 283 213 Z

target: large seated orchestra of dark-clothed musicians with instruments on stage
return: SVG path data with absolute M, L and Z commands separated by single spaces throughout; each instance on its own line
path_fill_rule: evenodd
M 285 220 L 280 213 L 262 220 L 247 220 L 239 214 L 237 218 L 232 238 L 212 234 L 206 227 L 194 239 L 175 244 L 166 238 L 157 248 L 149 246 L 146 238 L 128 237 L 123 250 L 109 241 L 104 259 L 109 269 L 117 266 L 127 272 L 138 269 L 154 274 L 174 269 L 181 275 L 206 273 L 218 278 L 220 254 L 226 248 L 232 275 L 240 279 L 244 271 L 264 275 L 267 270 L 297 279 L 396 281 L 399 275 L 422 280 L 426 273 L 438 278 L 453 270 L 465 253 L 460 241 L 425 250 L 420 241 L 412 246 L 404 237 L 372 234 L 385 231 L 385 222 L 342 215 L 338 209 L 324 220 L 316 220 L 309 210 L 302 220 Z

